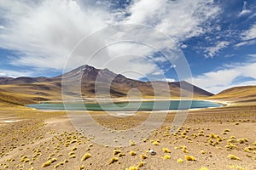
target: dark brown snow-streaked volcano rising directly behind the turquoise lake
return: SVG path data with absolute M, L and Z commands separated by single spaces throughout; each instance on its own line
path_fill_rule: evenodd
M 183 97 L 190 96 L 190 92 L 193 90 L 195 96 L 211 96 L 212 94 L 207 91 L 195 87 L 189 82 L 142 82 L 124 77 L 120 74 L 115 74 L 108 69 L 100 70 L 90 65 L 82 65 L 73 71 L 69 71 L 63 75 L 65 87 L 67 87 L 68 94 L 79 94 L 80 86 L 75 87 L 78 84 L 78 80 L 82 83 L 82 94 L 84 98 L 94 97 L 95 93 L 100 94 L 102 97 L 109 95 L 109 91 L 112 97 L 125 97 L 128 93 L 133 97 L 137 97 L 137 93 L 131 91 L 136 88 L 140 91 L 143 97 L 146 96 L 162 96 L 166 97 L 166 93 L 170 93 L 172 97 L 179 97 L 180 89 L 183 88 Z M 59 76 L 58 78 L 61 78 Z M 140 95 L 140 94 L 139 94 Z

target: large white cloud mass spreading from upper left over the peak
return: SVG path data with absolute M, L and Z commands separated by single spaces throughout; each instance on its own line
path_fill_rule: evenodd
M 156 57 L 149 62 L 143 57 L 157 50 L 175 49 L 167 36 L 177 42 L 195 37 L 209 31 L 207 23 L 218 15 L 219 8 L 212 0 L 167 1 L 135 0 L 126 9 L 112 10 L 108 6 L 91 1 L 84 5 L 73 0 L 24 0 L 0 1 L 0 20 L 4 20 L 4 29 L 0 31 L 0 48 L 15 50 L 19 56 L 12 59 L 12 65 L 26 65 L 43 70 L 62 70 L 67 56 L 83 37 L 112 24 L 140 24 L 149 27 L 127 30 L 109 30 L 107 35 L 97 34 L 83 47 L 75 51 L 76 59 L 69 60 L 70 67 L 87 64 L 94 49 L 102 48 L 90 60 L 90 64 L 99 68 L 108 66 L 115 72 L 133 69 L 138 73 L 126 72 L 125 76 L 140 78 L 159 71 L 158 62 L 165 62 L 163 57 Z M 98 6 L 96 6 L 98 4 Z M 107 3 L 106 3 L 107 4 Z M 106 6 L 106 7 L 103 7 Z M 131 15 L 127 15 L 131 14 Z M 152 30 L 156 31 L 152 31 Z M 166 33 L 161 37 L 157 31 Z M 111 35 L 112 37 L 108 37 Z M 105 38 L 106 37 L 106 38 Z M 116 40 L 135 40 L 119 42 Z M 125 59 L 117 59 L 127 54 Z M 172 58 L 177 54 L 168 54 Z M 110 61 L 114 62 L 111 64 Z M 108 63 L 108 64 L 106 64 Z M 123 65 L 125 63 L 125 65 Z M 174 64 L 173 64 L 174 65 Z

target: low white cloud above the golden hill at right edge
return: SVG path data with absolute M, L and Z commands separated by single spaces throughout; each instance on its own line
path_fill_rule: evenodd
M 225 65 L 224 69 L 210 71 L 200 76 L 193 77 L 192 83 L 207 89 L 213 94 L 238 85 L 252 85 L 256 81 L 234 82 L 238 77 L 249 77 L 256 80 L 256 63 L 244 63 L 236 65 Z M 256 85 L 256 83 L 254 83 Z

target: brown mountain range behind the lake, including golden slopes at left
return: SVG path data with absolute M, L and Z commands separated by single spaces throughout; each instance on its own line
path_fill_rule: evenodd
M 78 82 L 80 81 L 80 82 Z M 0 77 L 0 91 L 11 92 L 33 101 L 61 99 L 61 86 L 65 96 L 86 98 L 140 97 L 154 96 L 188 97 L 193 90 L 195 97 L 208 97 L 213 94 L 189 82 L 142 82 L 116 74 L 108 69 L 96 69 L 82 65 L 57 77 Z M 137 89 L 137 90 L 135 90 Z M 183 94 L 181 94 L 183 89 Z M 139 91 L 139 92 L 138 92 Z M 109 93 L 110 92 L 110 93 Z

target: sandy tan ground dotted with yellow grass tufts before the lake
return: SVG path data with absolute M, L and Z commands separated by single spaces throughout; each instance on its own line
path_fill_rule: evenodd
M 74 128 L 66 112 L 1 105 L 0 169 L 256 169 L 256 105 L 189 111 L 183 126 L 170 133 L 175 114 L 170 112 L 140 142 L 112 147 Z M 148 120 L 150 113 L 90 115 L 103 127 L 125 132 Z M 125 135 L 123 139 L 129 141 Z

